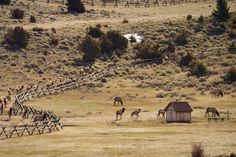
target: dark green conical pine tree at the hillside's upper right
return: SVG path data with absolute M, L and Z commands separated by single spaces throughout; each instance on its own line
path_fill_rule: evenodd
M 229 9 L 226 0 L 217 0 L 216 9 L 213 10 L 212 15 L 219 21 L 227 21 L 230 18 Z

